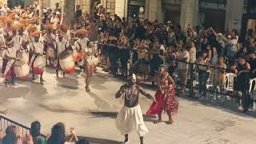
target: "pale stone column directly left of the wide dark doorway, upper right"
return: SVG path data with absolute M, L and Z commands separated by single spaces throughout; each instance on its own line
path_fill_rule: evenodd
M 198 25 L 198 0 L 182 0 L 181 26 L 182 30 L 186 30 L 188 25 Z

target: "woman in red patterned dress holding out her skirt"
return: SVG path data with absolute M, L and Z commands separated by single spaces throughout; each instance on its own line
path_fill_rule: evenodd
M 150 110 L 146 112 L 147 115 L 158 114 L 158 120 L 154 123 L 162 122 L 162 111 L 166 112 L 169 116 L 169 121 L 166 122 L 170 125 L 174 122 L 172 115 L 178 112 L 178 98 L 175 95 L 175 82 L 174 79 L 168 74 L 168 66 L 162 64 L 159 66 L 159 73 L 157 75 L 158 90 L 154 95 L 157 102 L 153 102 Z

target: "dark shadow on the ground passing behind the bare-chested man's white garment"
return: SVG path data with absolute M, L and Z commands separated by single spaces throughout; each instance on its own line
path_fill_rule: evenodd
M 90 112 L 90 114 L 94 115 L 94 118 L 101 118 L 101 117 L 107 117 L 107 118 L 117 118 L 118 113 L 117 112 Z M 144 122 L 154 122 L 154 116 L 143 114 Z

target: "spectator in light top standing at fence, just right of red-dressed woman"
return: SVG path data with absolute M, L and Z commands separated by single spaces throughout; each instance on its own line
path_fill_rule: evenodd
M 179 61 L 178 62 L 178 78 L 181 82 L 181 89 L 180 93 L 184 94 L 187 84 L 187 77 L 188 77 L 188 70 L 189 65 L 185 62 L 190 62 L 190 53 L 186 50 L 186 47 L 184 47 L 184 44 L 182 41 L 179 41 Z

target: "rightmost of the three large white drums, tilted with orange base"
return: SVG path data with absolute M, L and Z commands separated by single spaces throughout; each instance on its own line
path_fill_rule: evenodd
M 72 54 L 68 52 L 63 52 L 59 56 L 59 65 L 62 67 L 62 70 L 67 73 L 71 74 L 74 72 L 74 58 Z

